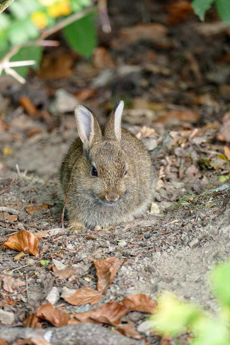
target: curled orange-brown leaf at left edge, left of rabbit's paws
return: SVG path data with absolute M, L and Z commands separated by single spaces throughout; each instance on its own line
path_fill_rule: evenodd
M 15 249 L 26 254 L 38 254 L 38 238 L 26 230 L 20 230 L 10 236 L 7 242 L 3 243 L 3 248 Z

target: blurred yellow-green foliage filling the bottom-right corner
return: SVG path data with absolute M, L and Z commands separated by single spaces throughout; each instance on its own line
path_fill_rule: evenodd
M 218 317 L 211 318 L 201 307 L 182 303 L 164 292 L 158 300 L 158 312 L 151 316 L 154 331 L 176 337 L 189 328 L 194 336 L 191 345 L 230 345 L 230 262 L 217 265 L 210 280 L 221 302 Z

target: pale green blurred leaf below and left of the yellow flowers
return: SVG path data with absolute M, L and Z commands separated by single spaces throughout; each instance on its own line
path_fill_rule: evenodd
M 24 43 L 39 36 L 38 28 L 30 18 L 17 20 L 8 29 L 8 38 L 12 46 Z

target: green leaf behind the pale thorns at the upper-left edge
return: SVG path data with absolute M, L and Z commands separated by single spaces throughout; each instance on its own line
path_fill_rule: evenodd
M 27 76 L 29 68 L 32 67 L 37 70 L 40 66 L 42 57 L 42 48 L 39 46 L 22 47 L 17 54 L 15 54 L 10 61 L 35 60 L 36 63 L 32 66 L 14 67 L 13 69 L 23 78 Z

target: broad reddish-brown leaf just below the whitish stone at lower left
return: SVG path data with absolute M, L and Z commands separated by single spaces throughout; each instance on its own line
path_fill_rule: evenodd
M 69 315 L 66 312 L 62 309 L 54 308 L 50 302 L 40 306 L 36 312 L 36 316 L 56 327 L 66 326 L 69 320 Z

